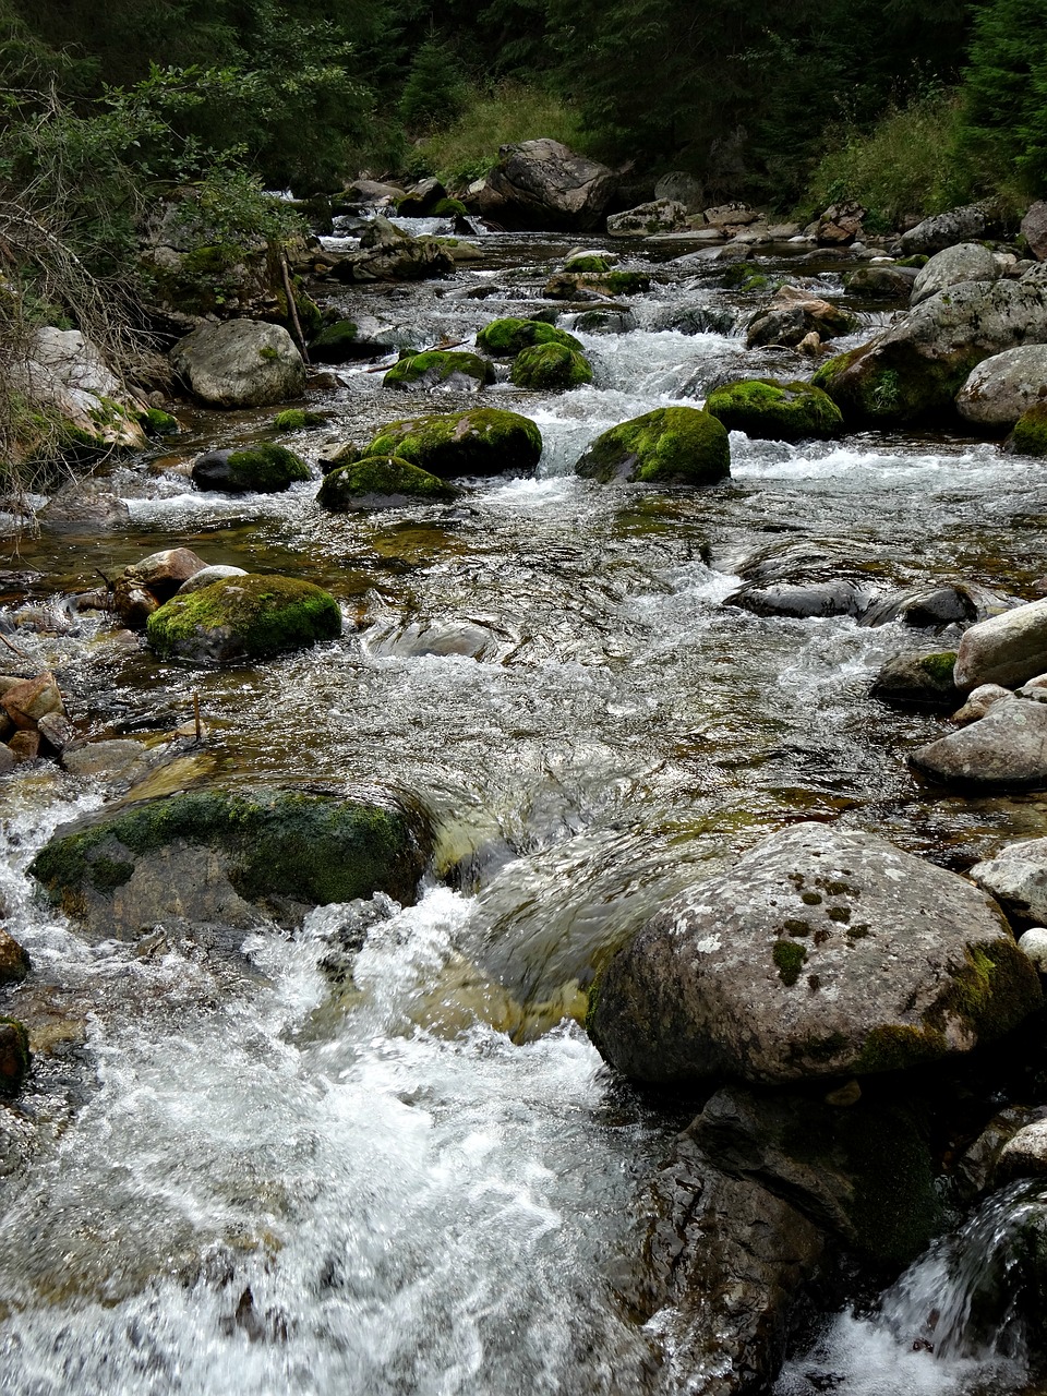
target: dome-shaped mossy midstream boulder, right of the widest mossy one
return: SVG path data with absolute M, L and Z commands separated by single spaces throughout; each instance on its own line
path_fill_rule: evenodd
M 656 408 L 596 437 L 575 472 L 603 484 L 716 484 L 730 475 L 727 429 L 698 408 Z

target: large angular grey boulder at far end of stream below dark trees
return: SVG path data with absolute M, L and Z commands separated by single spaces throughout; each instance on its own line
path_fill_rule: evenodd
M 586 232 L 599 226 L 617 179 L 606 165 L 546 138 L 503 145 L 480 190 L 484 218 L 503 228 Z

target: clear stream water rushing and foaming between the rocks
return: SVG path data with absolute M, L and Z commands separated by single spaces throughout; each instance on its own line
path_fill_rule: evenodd
M 483 244 L 486 261 L 447 282 L 334 296 L 419 348 L 547 304 L 565 240 Z M 727 327 L 757 299 L 727 296 L 712 264 L 653 269 L 664 279 L 631 303 L 635 328 L 575 331 L 592 387 L 486 389 L 540 426 L 535 479 L 373 517 L 321 511 L 315 482 L 200 494 L 177 468 L 264 434 L 271 413 L 188 410 L 183 436 L 112 468 L 128 528 L 45 529 L 8 564 L 32 575 L 8 579 L 0 620 L 28 662 L 57 669 L 74 718 L 169 744 L 149 789 L 394 783 L 433 810 L 438 852 L 410 909 L 327 907 L 300 934 L 260 927 L 246 942 L 158 927 L 94 945 L 24 870 L 105 785 L 40 764 L 0 786 L 0 892 L 35 967 L 7 1012 L 47 1046 L 0 1135 L 0 1390 L 684 1389 L 666 1386 L 659 1326 L 631 1295 L 645 1180 L 685 1121 L 602 1068 L 578 1023 L 593 963 L 797 818 L 875 829 L 951 867 L 1046 832 L 1036 796 L 959 799 L 907 772 L 906 751 L 944 725 L 874 702 L 868 684 L 913 632 L 722 604 L 743 558 L 783 546 L 829 550 L 885 586 L 1030 595 L 1047 571 L 1043 466 L 942 436 L 734 434 L 733 477 L 709 491 L 577 479 L 585 444 L 617 422 L 734 377 L 808 371 L 744 349 Z M 840 295 L 832 269 L 801 278 Z M 864 332 L 879 320 L 867 307 Z M 367 367 L 311 392 L 335 436 L 362 443 L 472 401 L 396 394 Z M 322 437 L 286 440 L 310 458 Z M 98 570 L 179 544 L 324 585 L 343 638 L 204 671 L 71 610 Z M 204 743 L 170 744 L 197 692 Z M 352 976 L 332 973 L 360 942 Z M 940 1255 L 920 1263 L 938 1265 L 920 1284 L 952 1283 Z M 840 1318 L 780 1390 L 1023 1388 L 1013 1351 L 913 1353 L 896 1302 Z

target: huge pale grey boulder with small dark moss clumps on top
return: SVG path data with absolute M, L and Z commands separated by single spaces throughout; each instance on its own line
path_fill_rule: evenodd
M 597 976 L 586 1027 L 634 1081 L 776 1083 L 965 1053 L 1040 1002 L 979 888 L 877 835 L 800 824 L 658 912 Z

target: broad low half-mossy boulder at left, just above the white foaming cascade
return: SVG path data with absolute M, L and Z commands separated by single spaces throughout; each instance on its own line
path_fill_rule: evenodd
M 170 917 L 242 927 L 376 892 L 412 903 L 430 843 L 392 794 L 207 789 L 66 825 L 29 874 L 89 934 L 133 938 Z

